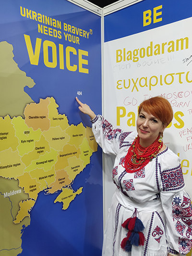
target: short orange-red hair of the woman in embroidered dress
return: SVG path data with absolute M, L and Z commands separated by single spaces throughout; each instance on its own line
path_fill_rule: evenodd
M 139 105 L 138 112 L 140 113 L 142 109 L 154 115 L 166 126 L 168 126 L 173 119 L 173 110 L 170 103 L 167 99 L 160 96 L 144 100 Z

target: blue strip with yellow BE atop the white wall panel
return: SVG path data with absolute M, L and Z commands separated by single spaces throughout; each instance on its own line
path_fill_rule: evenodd
M 191 10 L 188 0 L 143 0 L 105 16 L 105 42 L 189 18 Z

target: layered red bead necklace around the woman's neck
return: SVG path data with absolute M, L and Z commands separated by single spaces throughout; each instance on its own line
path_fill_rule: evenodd
M 122 166 L 129 173 L 143 169 L 149 161 L 156 158 L 156 154 L 163 146 L 163 141 L 160 139 L 160 136 L 156 138 L 154 143 L 147 147 L 141 146 L 139 141 L 140 138 L 137 135 L 122 162 Z

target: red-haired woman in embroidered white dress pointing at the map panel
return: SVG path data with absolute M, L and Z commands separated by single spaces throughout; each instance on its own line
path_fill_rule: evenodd
M 171 256 L 192 247 L 192 208 L 184 191 L 180 159 L 165 144 L 164 129 L 173 111 L 165 98 L 139 106 L 137 133 L 113 129 L 78 98 L 93 123 L 97 143 L 116 155 L 117 185 L 104 234 L 103 256 Z

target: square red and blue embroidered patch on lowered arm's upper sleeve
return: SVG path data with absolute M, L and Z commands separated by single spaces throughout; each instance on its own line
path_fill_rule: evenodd
M 162 190 L 174 191 L 184 187 L 181 166 L 161 171 Z

